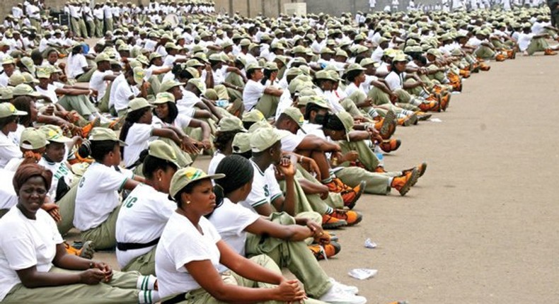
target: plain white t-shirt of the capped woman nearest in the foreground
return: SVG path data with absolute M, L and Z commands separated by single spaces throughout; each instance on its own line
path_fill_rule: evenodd
M 161 298 L 200 288 L 200 284 L 186 270 L 185 264 L 209 260 L 215 269 L 219 267 L 221 255 L 216 243 L 221 237 L 207 218 L 202 216 L 198 225 L 203 234 L 188 218 L 173 212 L 163 229 L 155 254 L 155 272 Z

